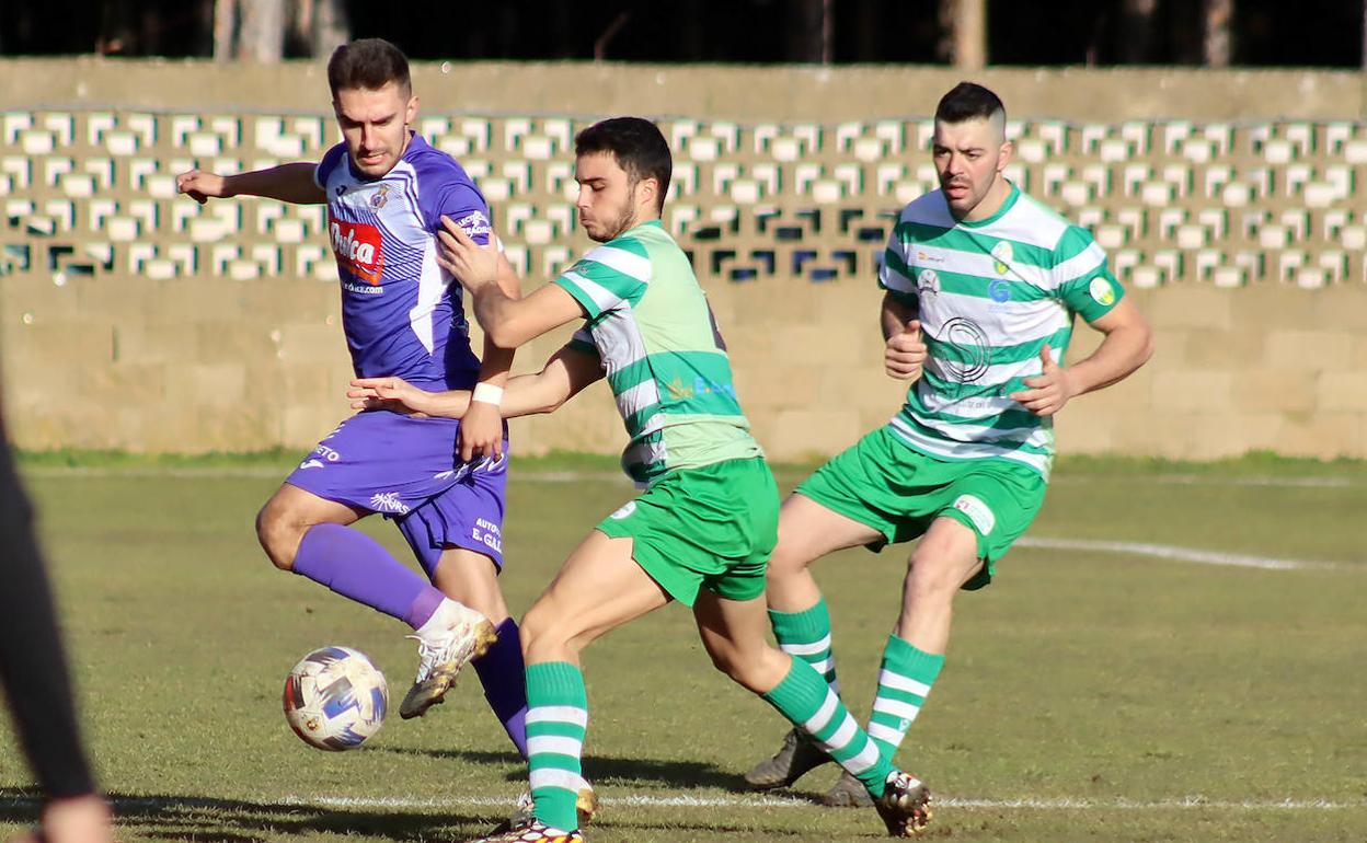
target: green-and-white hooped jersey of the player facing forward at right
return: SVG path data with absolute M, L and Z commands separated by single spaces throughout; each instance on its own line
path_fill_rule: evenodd
M 890 422 L 939 459 L 1009 459 L 1048 477 L 1054 425 L 1007 398 L 1064 365 L 1073 316 L 1094 321 L 1125 295 L 1085 228 L 1014 184 L 987 220 L 957 221 L 936 190 L 902 209 L 879 286 L 920 313 L 930 358 Z

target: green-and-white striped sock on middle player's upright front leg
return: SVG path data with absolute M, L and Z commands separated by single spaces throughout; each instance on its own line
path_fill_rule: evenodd
M 574 799 L 584 786 L 589 702 L 584 674 L 567 661 L 526 665 L 526 761 L 536 818 L 551 828 L 580 827 Z

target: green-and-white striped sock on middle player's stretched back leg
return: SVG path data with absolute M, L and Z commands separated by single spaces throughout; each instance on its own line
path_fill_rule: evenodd
M 891 761 L 883 757 L 874 739 L 860 728 L 835 690 L 812 665 L 793 659 L 793 668 L 783 682 L 761 697 L 815 738 L 817 746 L 863 782 L 875 798 L 883 795 L 883 783 L 893 772 Z

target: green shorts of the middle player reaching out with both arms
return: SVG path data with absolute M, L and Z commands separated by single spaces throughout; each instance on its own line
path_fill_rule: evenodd
M 636 563 L 684 605 L 700 588 L 753 600 L 778 544 L 778 504 L 764 459 L 730 459 L 664 475 L 597 530 L 630 538 Z

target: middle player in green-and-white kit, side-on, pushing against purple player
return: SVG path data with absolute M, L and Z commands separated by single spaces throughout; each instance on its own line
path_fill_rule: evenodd
M 630 437 L 622 467 L 645 489 L 570 553 L 522 622 L 533 816 L 485 840 L 582 840 L 576 797 L 588 698 L 580 652 L 673 600 L 692 607 L 718 669 L 830 753 L 889 833 L 910 836 L 930 818 L 925 786 L 893 768 L 820 672 L 766 641 L 778 489 L 741 413 L 707 296 L 660 224 L 671 171 L 668 143 L 648 120 L 615 118 L 584 130 L 576 138 L 577 209 L 601 246 L 524 299 L 493 283 L 495 246 L 474 245 L 455 225 L 440 235 L 442 265 L 470 291 L 496 346 L 515 348 L 584 322 L 539 374 L 509 383 L 503 415 L 550 413 L 606 376 Z M 468 392 L 428 393 L 398 378 L 354 387 L 362 403 L 398 400 L 432 415 L 458 417 L 469 406 Z

